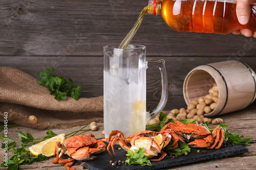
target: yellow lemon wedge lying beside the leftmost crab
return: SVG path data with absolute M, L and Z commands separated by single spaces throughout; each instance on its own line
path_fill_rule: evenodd
M 50 139 L 32 145 L 32 147 L 29 147 L 29 151 L 34 156 L 38 156 L 39 154 L 45 155 L 47 157 L 53 156 L 56 142 L 59 141 L 60 143 L 62 143 L 64 139 L 65 134 L 62 133 L 60 135 L 54 136 Z M 58 149 L 58 151 L 60 151 L 60 148 Z

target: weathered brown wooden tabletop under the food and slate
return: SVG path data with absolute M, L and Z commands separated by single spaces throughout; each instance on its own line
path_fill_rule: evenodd
M 256 118 L 255 118 L 256 106 L 249 106 L 244 110 L 228 113 L 221 115 L 219 117 L 223 118 L 224 123 L 228 125 L 228 130 L 230 132 L 237 132 L 239 135 L 244 137 L 252 137 L 253 140 L 248 146 L 249 152 L 246 152 L 241 155 L 234 155 L 230 157 L 224 157 L 220 159 L 212 159 L 207 161 L 201 161 L 196 163 L 189 163 L 174 167 L 167 167 L 163 169 L 255 169 L 255 138 L 256 138 Z M 87 133 L 95 134 L 96 138 L 104 137 L 101 132 L 103 130 L 103 123 L 98 124 L 99 129 L 97 131 L 88 131 Z M 213 127 L 214 125 L 211 125 Z M 56 134 L 61 133 L 70 133 L 76 130 L 79 130 L 81 127 L 73 127 L 69 129 L 52 129 Z M 46 130 L 37 130 L 25 127 L 14 127 L 8 129 L 8 136 L 18 140 L 18 132 L 23 131 L 24 133 L 30 132 L 34 137 L 46 136 Z M 0 155 L 4 155 L 4 150 L 0 150 Z M 9 158 L 12 156 L 11 152 L 8 152 Z M 19 170 L 23 169 L 33 169 L 33 170 L 42 170 L 42 169 L 65 169 L 63 164 L 53 164 L 54 157 L 50 157 L 49 160 L 42 162 L 33 162 L 32 164 L 24 164 L 19 166 Z M 3 156 L 0 157 L 0 162 L 3 162 Z M 216 168 L 218 166 L 218 168 Z M 6 169 L 6 167 L 1 167 L 1 169 Z M 79 167 L 77 169 L 83 169 Z

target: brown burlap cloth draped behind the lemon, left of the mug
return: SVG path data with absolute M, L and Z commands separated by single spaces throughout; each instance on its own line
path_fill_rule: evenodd
M 8 112 L 8 122 L 37 129 L 69 128 L 89 122 L 103 122 L 103 96 L 68 97 L 57 101 L 48 88 L 36 84 L 37 80 L 25 72 L 11 67 L 0 67 L 0 121 Z M 30 123 L 34 115 L 37 123 Z

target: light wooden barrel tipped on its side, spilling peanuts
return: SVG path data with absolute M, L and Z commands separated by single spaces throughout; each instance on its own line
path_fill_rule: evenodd
M 216 116 L 241 110 L 256 98 L 255 72 L 240 61 L 224 61 L 200 65 L 191 70 L 183 84 L 186 104 L 209 94 L 216 83 L 219 89 L 217 107 L 204 116 Z

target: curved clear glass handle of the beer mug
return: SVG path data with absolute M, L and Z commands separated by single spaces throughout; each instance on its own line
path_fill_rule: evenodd
M 162 81 L 162 95 L 159 104 L 157 107 L 150 111 L 150 117 L 154 118 L 156 115 L 158 115 L 163 108 L 165 107 L 167 100 L 168 100 L 168 78 L 167 78 L 167 70 L 165 66 L 164 60 L 158 60 L 158 61 L 147 61 L 147 63 L 151 63 L 159 67 L 160 74 L 161 74 L 161 81 Z

